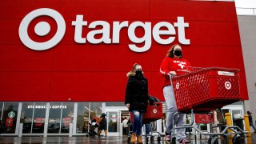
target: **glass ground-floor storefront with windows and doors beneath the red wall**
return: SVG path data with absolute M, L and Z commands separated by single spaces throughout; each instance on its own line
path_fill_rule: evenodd
M 97 132 L 91 126 L 91 119 L 106 113 L 109 136 L 123 135 L 122 119 L 130 118 L 126 106 L 122 102 L 1 102 L 0 111 L 3 120 L 2 135 L 18 135 L 22 126 L 22 136 L 30 135 L 69 135 L 88 136 L 90 130 Z M 163 110 L 165 105 L 163 105 Z M 222 108 L 223 112 L 243 115 L 242 102 Z M 163 111 L 165 115 L 165 110 Z M 222 122 L 220 114 L 216 113 L 215 124 Z M 21 125 L 22 124 L 22 125 Z M 70 128 L 70 124 L 72 124 Z M 164 134 L 165 117 L 152 124 L 152 130 Z M 199 125 L 201 130 L 210 130 L 209 124 Z M 142 130 L 143 133 L 145 130 Z

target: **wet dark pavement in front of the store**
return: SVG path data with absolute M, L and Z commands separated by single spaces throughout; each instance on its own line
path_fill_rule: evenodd
M 197 135 L 197 138 L 194 138 L 194 135 L 187 135 L 187 138 L 190 139 L 190 143 L 192 144 L 207 144 L 208 143 L 208 136 L 202 136 L 200 139 L 199 135 Z M 49 136 L 47 138 L 43 137 L 7 137 L 7 136 L 0 136 L 0 144 L 45 144 L 45 143 L 52 143 L 52 144 L 82 144 L 82 143 L 107 143 L 107 144 L 115 144 L 115 143 L 127 143 L 127 136 L 121 136 L 121 137 L 114 137 L 114 136 L 108 136 L 108 137 L 53 137 Z M 143 138 L 143 143 L 146 143 L 146 139 Z M 161 143 L 166 144 L 165 139 L 161 138 L 160 142 L 157 142 L 157 137 L 154 137 L 154 142 L 149 143 Z M 224 142 L 224 139 L 222 137 L 218 138 L 218 143 L 227 143 L 232 144 L 232 138 L 227 138 L 227 141 Z M 238 143 L 246 143 L 246 144 L 255 144 L 256 143 L 256 134 L 251 133 L 251 136 L 247 136 L 242 142 Z

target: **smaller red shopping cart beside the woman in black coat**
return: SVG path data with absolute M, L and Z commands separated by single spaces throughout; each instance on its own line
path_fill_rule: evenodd
M 162 102 L 154 102 L 153 105 L 148 105 L 146 107 L 146 113 L 143 114 L 142 117 L 142 123 L 150 123 L 150 122 L 155 122 L 158 119 L 162 118 Z M 130 126 L 132 126 L 132 122 L 134 119 L 134 115 L 130 113 Z M 129 126 L 129 130 L 130 130 Z M 132 131 L 129 131 L 129 136 L 127 138 L 127 142 L 130 142 L 130 135 L 132 134 Z M 160 134 L 158 131 L 151 131 L 151 134 L 149 135 L 142 135 L 145 137 L 150 137 L 150 142 L 154 142 L 154 136 L 157 135 L 157 141 L 161 141 L 161 137 L 164 137 L 164 134 Z M 146 142 L 149 142 L 149 139 L 146 138 Z

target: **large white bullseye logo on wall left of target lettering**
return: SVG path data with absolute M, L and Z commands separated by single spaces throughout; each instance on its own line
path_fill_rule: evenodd
M 53 38 L 46 42 L 34 42 L 28 34 L 28 27 L 30 22 L 33 21 L 34 18 L 38 18 L 40 16 L 49 16 L 54 18 L 54 21 L 57 23 L 57 32 Z M 49 8 L 41 8 L 37 10 L 31 11 L 29 14 L 26 14 L 25 18 L 22 19 L 22 22 L 18 29 L 18 35 L 21 39 L 22 43 L 32 50 L 48 50 L 58 44 L 65 34 L 66 31 L 66 23 L 61 14 L 56 10 L 52 10 Z M 38 22 L 36 26 L 34 26 L 35 34 L 38 36 L 46 36 L 50 32 L 50 24 L 48 22 Z

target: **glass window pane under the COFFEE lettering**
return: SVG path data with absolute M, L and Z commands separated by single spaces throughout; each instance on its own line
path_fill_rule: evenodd
M 62 103 L 61 102 L 50 102 L 50 112 L 48 121 L 48 133 L 58 134 L 60 131 L 60 122 L 62 114 Z

